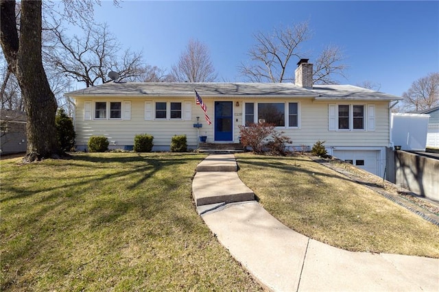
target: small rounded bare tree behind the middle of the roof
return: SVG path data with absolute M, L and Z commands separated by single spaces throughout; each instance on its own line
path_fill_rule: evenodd
M 176 82 L 213 82 L 217 78 L 209 55 L 209 48 L 198 40 L 189 43 L 172 66 L 171 75 Z

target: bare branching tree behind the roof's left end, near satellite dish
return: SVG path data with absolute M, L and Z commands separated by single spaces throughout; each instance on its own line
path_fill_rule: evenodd
M 45 62 L 76 82 L 86 87 L 110 81 L 109 71 L 119 73 L 119 81 L 140 81 L 145 73 L 142 53 L 129 49 L 121 51 L 121 45 L 106 24 L 89 23 L 83 27 L 84 36 L 69 38 L 57 25 L 51 32 L 56 49 L 47 51 Z

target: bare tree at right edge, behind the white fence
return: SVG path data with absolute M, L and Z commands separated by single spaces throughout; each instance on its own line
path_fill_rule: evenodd
M 403 93 L 408 110 L 428 110 L 439 106 L 439 72 L 429 73 L 412 83 Z

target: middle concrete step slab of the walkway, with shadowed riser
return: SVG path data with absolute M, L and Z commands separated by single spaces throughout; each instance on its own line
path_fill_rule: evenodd
M 254 200 L 253 191 L 232 171 L 197 172 L 192 182 L 195 206 Z

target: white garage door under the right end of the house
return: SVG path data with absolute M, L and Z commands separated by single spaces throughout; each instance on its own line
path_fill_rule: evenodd
M 334 156 L 338 159 L 376 175 L 379 175 L 378 154 L 379 151 L 375 150 L 334 150 Z

